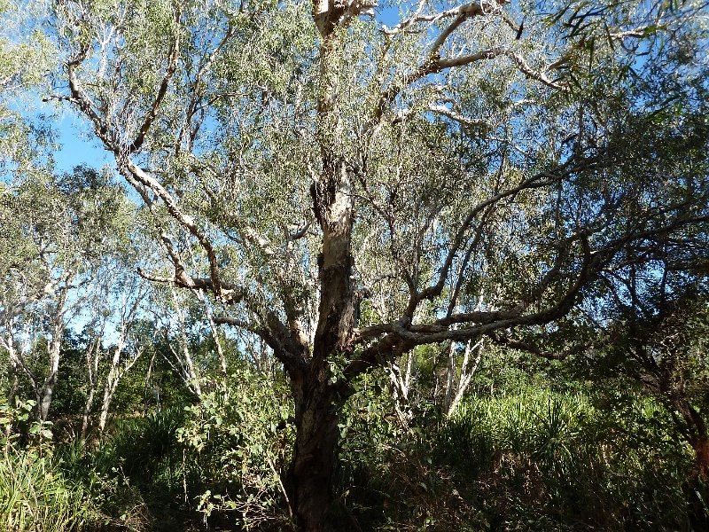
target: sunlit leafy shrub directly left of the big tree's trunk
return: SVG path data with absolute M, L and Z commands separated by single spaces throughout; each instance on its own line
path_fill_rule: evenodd
M 249 370 L 230 377 L 228 398 L 210 392 L 186 410 L 179 440 L 203 490 L 198 510 L 205 519 L 245 529 L 269 523 L 290 527 L 281 480 L 290 458 L 292 407 L 284 382 Z

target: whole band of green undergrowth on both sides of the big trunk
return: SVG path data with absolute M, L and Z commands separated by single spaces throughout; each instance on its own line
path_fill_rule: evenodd
M 557 363 L 496 362 L 452 416 L 422 395 L 409 426 L 384 380 L 361 383 L 339 427 L 339 529 L 702 529 L 709 490 L 671 412 L 638 389 L 561 379 Z M 228 398 L 118 412 L 86 442 L 72 419 L 40 426 L 31 403 L 5 405 L 19 432 L 0 459 L 2 527 L 291 530 L 284 382 L 232 379 Z

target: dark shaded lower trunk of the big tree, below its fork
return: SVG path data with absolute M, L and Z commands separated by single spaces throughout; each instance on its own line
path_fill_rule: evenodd
M 333 530 L 333 480 L 339 438 L 339 403 L 327 379 L 292 381 L 296 436 L 286 491 L 305 532 Z

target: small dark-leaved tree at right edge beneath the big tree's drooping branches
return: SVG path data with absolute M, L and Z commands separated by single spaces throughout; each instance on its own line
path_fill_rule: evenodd
M 709 433 L 704 348 L 705 283 L 662 276 L 661 288 L 615 293 L 616 319 L 604 332 L 607 347 L 596 352 L 596 374 L 623 375 L 640 383 L 671 412 L 678 434 L 694 450 L 697 476 L 709 474 Z M 674 285 L 674 286 L 670 286 Z

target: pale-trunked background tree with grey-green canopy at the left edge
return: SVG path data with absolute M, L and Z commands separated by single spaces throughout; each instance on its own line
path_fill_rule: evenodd
M 59 178 L 34 173 L 13 185 L 0 210 L 2 347 L 11 362 L 9 393 L 14 397 L 22 372 L 34 390 L 37 417 L 46 420 L 66 327 L 81 313 L 100 263 L 120 245 L 123 237 L 110 233 L 124 231 L 129 210 L 121 189 L 90 168 Z M 41 363 L 27 357 L 38 356 L 32 344 L 40 337 L 46 346 Z

